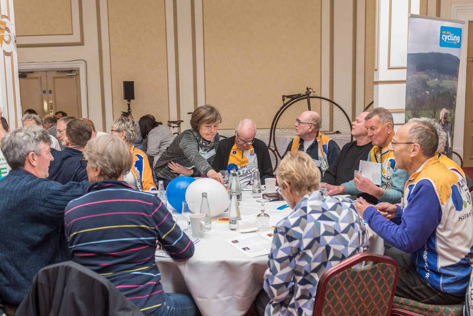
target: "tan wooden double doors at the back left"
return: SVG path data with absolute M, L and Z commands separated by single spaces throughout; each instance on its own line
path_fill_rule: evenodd
M 64 111 L 82 117 L 79 70 L 20 72 L 22 114 L 32 108 L 40 117 Z

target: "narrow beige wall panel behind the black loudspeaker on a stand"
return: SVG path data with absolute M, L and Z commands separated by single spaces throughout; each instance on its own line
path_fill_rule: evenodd
M 133 117 L 138 120 L 152 114 L 166 123 L 169 108 L 164 1 L 143 1 L 140 5 L 127 0 L 108 1 L 108 26 L 114 118 L 127 110 L 123 81 L 134 81 Z

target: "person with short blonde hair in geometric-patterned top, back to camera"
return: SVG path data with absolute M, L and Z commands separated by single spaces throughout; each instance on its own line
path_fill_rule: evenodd
M 270 298 L 264 315 L 312 315 L 318 280 L 327 269 L 365 251 L 368 231 L 350 199 L 324 198 L 317 190 L 320 172 L 307 153 L 286 154 L 276 177 L 293 212 L 274 229 L 264 274 L 263 288 Z M 314 238 L 295 238 L 301 232 Z M 333 252 L 332 246 L 344 251 Z M 260 315 L 264 297 L 260 292 L 256 303 Z

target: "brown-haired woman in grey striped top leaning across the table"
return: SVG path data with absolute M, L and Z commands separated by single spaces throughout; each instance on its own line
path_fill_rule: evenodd
M 204 174 L 224 183 L 220 172 L 211 167 L 219 145 L 217 130 L 221 121 L 219 110 L 211 105 L 203 105 L 194 110 L 191 117 L 192 128 L 179 134 L 155 164 L 158 180 L 163 180 L 165 187 L 179 174 Z

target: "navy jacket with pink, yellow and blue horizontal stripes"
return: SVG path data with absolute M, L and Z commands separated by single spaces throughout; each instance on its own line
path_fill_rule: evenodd
M 185 261 L 194 245 L 156 195 L 121 181 L 92 183 L 64 212 L 72 260 L 111 281 L 149 314 L 164 302 L 155 262 L 156 244 Z

